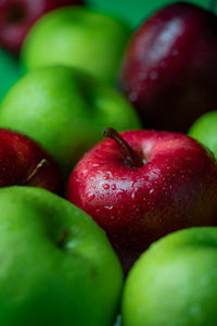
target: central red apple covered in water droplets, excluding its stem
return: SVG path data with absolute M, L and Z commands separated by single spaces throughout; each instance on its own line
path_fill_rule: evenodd
M 217 165 L 186 135 L 135 130 L 122 136 L 145 164 L 128 167 L 119 146 L 105 139 L 77 163 L 67 198 L 106 231 L 127 271 L 158 238 L 217 225 Z

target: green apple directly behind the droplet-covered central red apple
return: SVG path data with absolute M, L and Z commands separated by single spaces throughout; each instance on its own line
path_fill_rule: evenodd
M 18 80 L 0 108 L 0 126 L 43 146 L 67 176 L 107 126 L 140 126 L 135 109 L 118 92 L 73 67 L 50 66 Z

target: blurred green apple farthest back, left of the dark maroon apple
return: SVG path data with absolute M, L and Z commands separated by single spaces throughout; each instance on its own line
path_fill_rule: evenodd
M 81 7 L 62 8 L 36 23 L 22 60 L 27 70 L 67 64 L 114 83 L 129 35 L 127 25 L 114 17 Z

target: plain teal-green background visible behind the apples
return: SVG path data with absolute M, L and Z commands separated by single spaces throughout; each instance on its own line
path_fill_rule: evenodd
M 194 0 L 193 2 L 208 8 L 212 0 Z M 117 16 L 126 21 L 132 28 L 137 28 L 146 17 L 157 9 L 173 3 L 168 0 L 86 0 L 86 3 L 101 12 Z M 217 2 L 217 1 L 216 1 Z M 217 7 L 217 5 L 216 5 Z M 18 62 L 0 49 L 0 102 L 5 92 L 21 76 Z

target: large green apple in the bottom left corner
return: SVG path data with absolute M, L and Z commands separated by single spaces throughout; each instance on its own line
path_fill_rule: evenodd
M 123 274 L 104 231 L 44 189 L 0 189 L 0 325 L 111 326 Z

